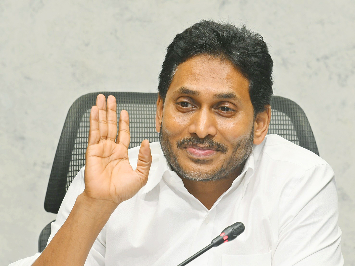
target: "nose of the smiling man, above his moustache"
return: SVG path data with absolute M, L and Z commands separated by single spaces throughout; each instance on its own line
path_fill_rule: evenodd
M 213 114 L 206 109 L 198 110 L 191 117 L 189 133 L 200 139 L 214 137 L 217 134 L 217 126 Z

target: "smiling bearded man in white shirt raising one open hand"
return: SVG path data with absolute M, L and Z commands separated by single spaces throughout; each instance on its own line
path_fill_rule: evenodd
M 86 166 L 47 248 L 13 265 L 178 265 L 240 221 L 245 231 L 189 265 L 343 265 L 334 173 L 268 135 L 272 60 L 258 34 L 202 21 L 169 45 L 156 128 L 128 150 L 129 118 L 98 95 Z

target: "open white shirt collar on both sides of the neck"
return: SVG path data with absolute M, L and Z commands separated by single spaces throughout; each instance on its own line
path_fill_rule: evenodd
M 252 151 L 245 162 L 242 172 L 240 175 L 233 181 L 231 188 L 233 189 L 236 184 L 239 184 L 239 180 L 244 177 L 243 185 L 243 196 L 246 190 L 246 187 L 252 177 L 254 170 L 255 170 L 255 163 L 254 163 L 254 149 L 256 145 L 253 145 Z M 159 147 L 160 148 L 160 147 Z M 184 185 L 182 180 L 178 177 L 178 175 L 171 171 L 171 167 L 166 161 L 163 151 L 160 149 L 159 154 L 152 154 L 153 161 L 151 166 L 151 171 L 149 171 L 148 181 L 147 184 L 144 185 L 142 188 L 142 196 L 150 192 L 153 188 L 155 188 L 159 182 L 162 180 L 163 176 L 165 180 L 170 183 L 171 185 Z

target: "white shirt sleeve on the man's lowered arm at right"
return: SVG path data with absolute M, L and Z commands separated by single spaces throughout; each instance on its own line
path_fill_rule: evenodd
M 342 266 L 341 230 L 334 172 L 306 171 L 279 203 L 279 239 L 272 266 Z

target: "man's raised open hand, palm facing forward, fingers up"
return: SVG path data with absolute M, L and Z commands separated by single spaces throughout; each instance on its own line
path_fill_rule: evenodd
M 91 199 L 107 200 L 113 208 L 132 198 L 147 183 L 152 155 L 148 140 L 143 140 L 136 170 L 128 160 L 129 117 L 121 111 L 117 135 L 116 99 L 99 94 L 90 112 L 89 141 L 86 150 L 85 189 Z

